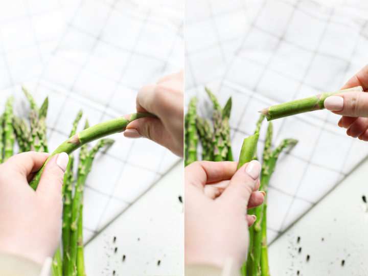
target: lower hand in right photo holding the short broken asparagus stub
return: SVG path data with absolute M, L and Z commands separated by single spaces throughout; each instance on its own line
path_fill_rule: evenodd
M 262 204 L 258 192 L 261 164 L 253 160 L 237 171 L 237 162 L 194 162 L 185 168 L 185 261 L 223 267 L 232 257 L 240 267 L 246 258 L 247 210 Z

